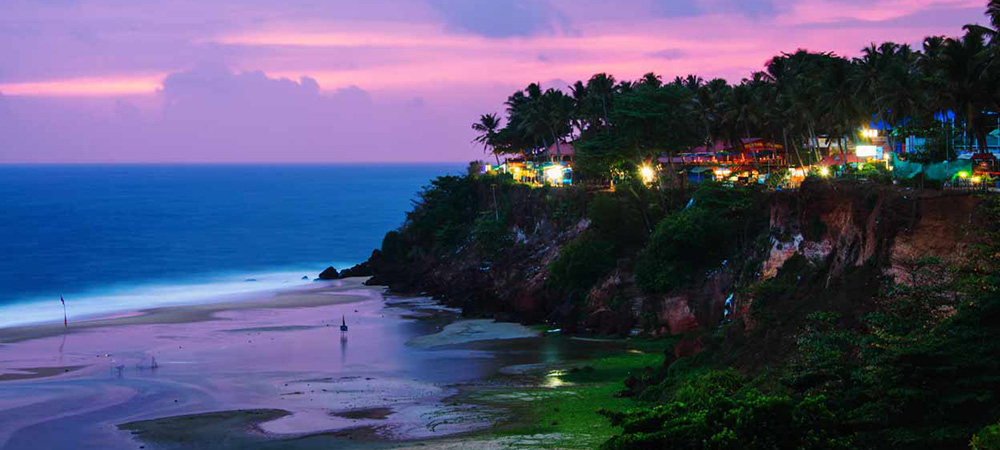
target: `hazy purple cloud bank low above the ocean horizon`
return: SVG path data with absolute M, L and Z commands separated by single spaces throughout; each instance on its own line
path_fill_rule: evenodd
M 466 111 L 466 113 L 469 113 Z M 376 102 L 263 72 L 199 67 L 153 98 L 0 97 L 0 162 L 312 162 L 466 159 L 464 128 L 420 98 Z M 418 152 L 421 141 L 439 153 Z

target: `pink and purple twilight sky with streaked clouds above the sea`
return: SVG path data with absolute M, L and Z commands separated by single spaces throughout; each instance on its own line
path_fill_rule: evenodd
M 957 35 L 985 3 L 0 0 L 0 163 L 468 161 L 528 83 L 738 82 Z

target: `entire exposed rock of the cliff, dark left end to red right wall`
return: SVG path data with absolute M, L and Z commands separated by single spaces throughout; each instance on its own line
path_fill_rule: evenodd
M 478 195 L 488 204 L 489 192 Z M 625 258 L 579 304 L 552 292 L 548 268 L 561 248 L 590 224 L 580 215 L 569 222 L 554 217 L 546 201 L 531 193 L 516 199 L 508 230 L 514 243 L 491 257 L 466 246 L 399 264 L 380 260 L 376 252 L 372 283 L 434 295 L 470 315 L 547 321 L 570 331 L 624 335 L 642 328 L 654 335 L 685 334 L 726 320 L 740 321 L 749 331 L 758 325 L 750 313 L 752 287 L 774 279 L 789 261 L 804 259 L 809 274 L 798 276 L 799 292 L 778 308 L 798 315 L 811 310 L 864 312 L 883 277 L 905 282 L 908 262 L 965 257 L 976 237 L 971 230 L 978 204 L 964 193 L 806 183 L 798 191 L 770 194 L 769 229 L 760 230 L 756 244 L 733 249 L 733 258 L 700 282 L 646 294 L 636 286 L 631 261 Z

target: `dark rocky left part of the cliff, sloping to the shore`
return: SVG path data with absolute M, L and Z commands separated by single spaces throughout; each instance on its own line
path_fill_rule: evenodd
M 475 195 L 485 205 L 492 205 L 495 198 L 482 186 Z M 560 248 L 585 231 L 589 222 L 579 217 L 579 212 L 560 217 L 548 204 L 551 195 L 574 194 L 544 194 L 525 188 L 509 195 L 512 224 L 507 234 L 512 242 L 499 251 L 484 255 L 469 243 L 447 254 L 418 253 L 404 262 L 384 258 L 376 251 L 370 259 L 375 276 L 369 283 L 399 293 L 431 295 L 461 307 L 467 315 L 565 322 L 571 311 L 546 289 L 548 267 Z M 579 203 L 576 211 L 585 211 L 585 201 L 566 200 Z

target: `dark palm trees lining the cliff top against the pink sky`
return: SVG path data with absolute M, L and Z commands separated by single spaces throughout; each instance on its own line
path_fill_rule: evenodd
M 908 155 L 915 160 L 951 159 L 956 144 L 984 150 L 990 114 L 1000 111 L 1000 0 L 986 15 L 990 27 L 930 36 L 921 49 L 885 42 L 852 59 L 782 53 L 738 84 L 654 73 L 621 81 L 599 73 L 565 92 L 531 84 L 508 98 L 506 123 L 487 114 L 473 128 L 497 163 L 572 138 L 578 175 L 590 179 L 621 179 L 656 155 L 719 141 L 740 148 L 750 137 L 783 144 L 792 164 L 807 165 L 821 148 L 838 151 L 821 141 L 863 141 L 869 122 L 886 125 L 890 145 L 927 138 L 922 153 Z

